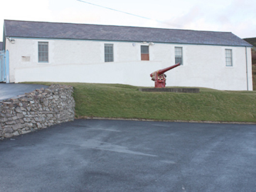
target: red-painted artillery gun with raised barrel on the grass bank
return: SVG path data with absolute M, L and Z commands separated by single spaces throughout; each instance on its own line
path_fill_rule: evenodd
M 166 87 L 166 71 L 171 70 L 172 68 L 180 66 L 180 63 L 174 64 L 174 66 L 170 66 L 161 70 L 154 71 L 150 74 L 151 80 L 154 81 L 154 87 Z

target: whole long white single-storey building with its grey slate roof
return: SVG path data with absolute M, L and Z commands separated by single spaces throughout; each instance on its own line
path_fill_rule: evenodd
M 252 90 L 251 44 L 231 32 L 5 20 L 9 81 L 119 83 Z

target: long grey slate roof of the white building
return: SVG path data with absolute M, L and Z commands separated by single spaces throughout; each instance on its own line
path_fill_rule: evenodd
M 251 46 L 231 32 L 5 20 L 5 36 Z

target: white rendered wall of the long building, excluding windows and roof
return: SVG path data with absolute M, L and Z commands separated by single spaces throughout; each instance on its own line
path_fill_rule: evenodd
M 49 63 L 38 63 L 38 42 L 49 42 Z M 114 44 L 114 62 L 104 61 L 104 44 Z M 251 51 L 245 47 L 155 43 L 150 61 L 140 60 L 138 42 L 88 40 L 7 40 L 10 81 L 120 83 L 153 87 L 153 71 L 175 64 L 174 47 L 183 47 L 183 66 L 166 73 L 167 86 L 252 90 Z M 225 66 L 225 49 L 232 49 L 233 67 Z M 247 75 L 248 74 L 248 75 Z M 248 80 L 247 80 L 248 77 Z M 248 83 L 247 83 L 248 82 Z

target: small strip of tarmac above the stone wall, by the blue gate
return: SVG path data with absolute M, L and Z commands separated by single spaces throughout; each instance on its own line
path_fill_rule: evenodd
M 22 83 L 0 83 L 0 100 L 13 98 L 23 95 L 26 92 L 32 92 L 39 88 L 48 88 L 47 85 L 22 84 Z

